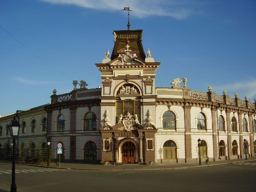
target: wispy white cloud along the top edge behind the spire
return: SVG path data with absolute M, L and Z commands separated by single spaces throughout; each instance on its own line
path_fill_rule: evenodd
M 97 9 L 105 11 L 119 11 L 128 5 L 133 10 L 133 15 L 138 18 L 149 17 L 151 15 L 169 16 L 175 19 L 185 19 L 192 14 L 202 13 L 194 11 L 193 7 L 205 5 L 200 0 L 41 0 L 47 3 L 75 5 L 88 9 Z

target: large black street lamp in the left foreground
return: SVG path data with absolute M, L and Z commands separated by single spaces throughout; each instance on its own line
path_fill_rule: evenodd
M 13 167 L 12 167 L 12 171 L 11 171 L 11 173 L 12 173 L 12 175 L 11 175 L 11 192 L 17 191 L 17 187 L 16 187 L 16 183 L 15 183 L 15 139 L 18 136 L 20 126 L 21 125 L 19 125 L 19 122 L 15 119 L 15 117 L 9 123 L 10 135 L 11 135 L 11 137 L 13 137 Z

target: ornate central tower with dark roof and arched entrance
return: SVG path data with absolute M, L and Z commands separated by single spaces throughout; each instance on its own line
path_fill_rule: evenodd
M 102 80 L 102 161 L 123 163 L 127 161 L 123 155 L 127 154 L 133 154 L 129 159 L 134 158 L 134 162 L 154 161 L 155 72 L 160 62 L 154 62 L 149 49 L 146 57 L 142 30 L 114 31 L 113 34 L 111 57 L 107 50 L 102 63 L 96 64 Z M 133 153 L 127 152 L 129 147 L 123 147 L 127 143 L 132 145 Z

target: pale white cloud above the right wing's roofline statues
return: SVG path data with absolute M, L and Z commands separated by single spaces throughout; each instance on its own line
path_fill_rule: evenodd
M 239 98 L 242 100 L 245 95 L 247 95 L 249 99 L 254 99 L 256 97 L 256 79 L 213 86 L 213 90 L 219 93 L 222 93 L 224 89 L 227 90 L 227 94 L 230 97 L 234 97 L 234 93 L 238 93 Z

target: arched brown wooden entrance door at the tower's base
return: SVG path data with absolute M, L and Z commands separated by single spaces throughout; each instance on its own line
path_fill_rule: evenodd
M 135 145 L 127 141 L 122 146 L 122 163 L 135 163 Z

